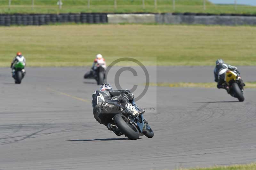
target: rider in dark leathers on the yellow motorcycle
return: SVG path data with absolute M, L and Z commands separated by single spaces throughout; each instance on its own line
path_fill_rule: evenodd
M 217 82 L 217 88 L 218 89 L 226 89 L 227 92 L 229 93 L 229 87 L 227 85 L 224 85 L 223 83 L 225 82 L 225 74 L 226 74 L 226 70 L 229 69 L 231 71 L 234 71 L 235 73 L 237 73 L 238 77 L 240 77 L 240 72 L 237 70 L 237 67 L 235 66 L 231 66 L 231 65 L 227 65 L 224 63 L 224 61 L 222 59 L 218 59 L 216 61 L 216 67 L 214 69 L 214 81 Z M 245 84 L 243 82 L 243 80 L 241 79 L 241 77 L 238 79 L 241 87 L 244 87 Z

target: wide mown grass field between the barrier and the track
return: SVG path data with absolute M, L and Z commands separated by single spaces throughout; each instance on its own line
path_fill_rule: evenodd
M 9 66 L 17 51 L 28 66 L 90 66 L 98 53 L 108 64 L 115 59 L 110 56 L 116 56 L 159 66 L 213 66 L 218 58 L 232 65 L 256 66 L 255 32 L 256 27 L 248 26 L 0 27 L 0 66 Z

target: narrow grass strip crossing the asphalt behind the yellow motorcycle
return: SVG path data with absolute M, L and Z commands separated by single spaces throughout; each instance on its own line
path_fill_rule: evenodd
M 246 86 L 244 88 L 255 89 L 256 82 L 245 82 Z M 149 86 L 158 87 L 190 87 L 190 88 L 216 88 L 216 83 L 191 83 L 191 82 L 174 82 L 174 83 L 149 83 Z

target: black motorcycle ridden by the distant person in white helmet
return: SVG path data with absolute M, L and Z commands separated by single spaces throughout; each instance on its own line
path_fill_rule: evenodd
M 92 67 L 90 71 L 84 74 L 84 79 L 95 79 L 98 85 L 103 84 L 105 78 L 105 68 L 101 65 Z

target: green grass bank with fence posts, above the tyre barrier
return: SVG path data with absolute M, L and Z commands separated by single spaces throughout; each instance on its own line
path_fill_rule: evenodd
M 206 10 L 203 10 L 203 0 L 175 0 L 173 10 L 172 0 L 157 0 L 157 9 L 154 0 L 145 0 L 145 9 L 142 0 L 117 0 L 117 9 L 114 0 L 62 0 L 63 6 L 59 10 L 57 0 L 35 0 L 35 9 L 31 8 L 31 0 L 12 0 L 11 9 L 8 0 L 0 0 L 0 13 L 66 13 L 66 12 L 208 12 L 208 13 L 246 13 L 256 14 L 255 6 L 216 5 L 206 1 Z

